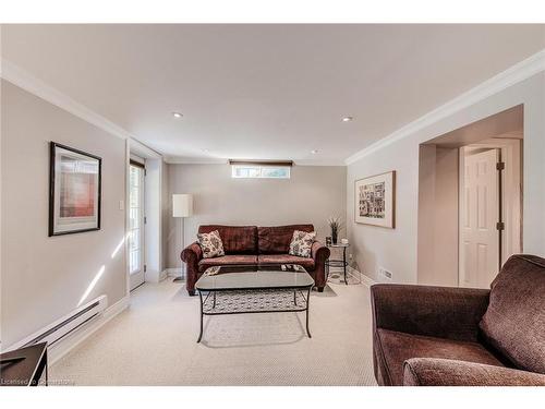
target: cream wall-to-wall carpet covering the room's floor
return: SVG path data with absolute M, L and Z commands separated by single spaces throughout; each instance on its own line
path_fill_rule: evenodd
M 304 313 L 205 317 L 169 278 L 131 293 L 131 305 L 50 369 L 75 385 L 376 385 L 370 290 L 330 282 Z

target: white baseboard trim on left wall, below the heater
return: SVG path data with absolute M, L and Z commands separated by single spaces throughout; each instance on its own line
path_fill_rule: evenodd
M 90 335 L 102 327 L 108 321 L 124 311 L 129 306 L 129 296 L 125 296 L 113 305 L 107 308 L 102 314 L 93 318 L 92 321 L 76 329 L 73 334 L 68 335 L 66 337 L 55 344 L 52 347 L 48 348 L 48 364 L 55 364 L 62 357 L 72 351 L 75 347 L 77 347 Z

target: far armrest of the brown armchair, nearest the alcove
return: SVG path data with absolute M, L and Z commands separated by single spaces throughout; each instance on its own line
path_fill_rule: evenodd
M 489 290 L 378 284 L 371 287 L 373 326 L 476 341 Z

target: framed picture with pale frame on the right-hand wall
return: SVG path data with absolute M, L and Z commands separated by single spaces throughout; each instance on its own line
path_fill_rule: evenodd
M 395 227 L 396 171 L 355 181 L 355 222 Z

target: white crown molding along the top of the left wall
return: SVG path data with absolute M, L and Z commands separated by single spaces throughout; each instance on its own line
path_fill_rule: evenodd
M 1 60 L 0 76 L 13 85 L 36 95 L 37 97 L 74 115 L 77 118 L 83 119 L 86 122 L 94 124 L 97 128 L 100 128 L 114 136 L 121 137 L 122 140 L 133 139 L 123 128 L 77 103 L 66 94 L 61 93 L 60 91 L 46 84 L 44 81 L 37 79 L 4 58 Z

